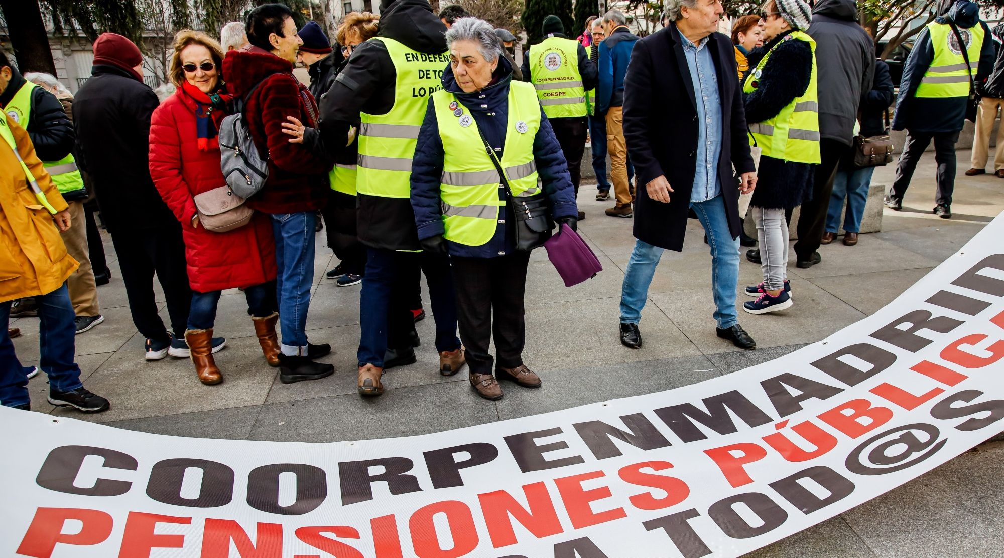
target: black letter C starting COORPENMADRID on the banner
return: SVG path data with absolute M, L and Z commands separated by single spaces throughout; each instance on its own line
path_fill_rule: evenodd
M 80 473 L 80 466 L 83 465 L 83 458 L 87 456 L 103 458 L 102 467 L 109 469 L 136 471 L 139 467 L 139 463 L 133 456 L 107 448 L 60 446 L 46 456 L 42 468 L 38 471 L 38 476 L 35 477 L 35 484 L 43 489 L 78 496 L 121 496 L 133 487 L 133 483 L 129 481 L 109 481 L 107 479 L 97 479 L 91 488 L 73 486 L 73 481 Z

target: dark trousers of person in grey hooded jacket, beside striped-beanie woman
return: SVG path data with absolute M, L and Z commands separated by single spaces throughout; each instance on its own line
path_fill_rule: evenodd
M 823 140 L 819 143 L 819 159 L 816 165 L 815 180 L 812 184 L 812 199 L 802 203 L 798 215 L 798 241 L 795 242 L 795 254 L 799 260 L 808 260 L 819 249 L 822 234 L 826 230 L 826 212 L 829 211 L 829 198 L 833 193 L 833 179 L 840 160 L 850 151 L 850 146 L 835 140 Z

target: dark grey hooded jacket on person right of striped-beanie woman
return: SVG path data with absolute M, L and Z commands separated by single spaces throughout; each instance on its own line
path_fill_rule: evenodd
M 819 135 L 849 146 L 858 104 L 871 89 L 874 44 L 857 24 L 854 0 L 819 0 L 807 32 L 816 41 Z

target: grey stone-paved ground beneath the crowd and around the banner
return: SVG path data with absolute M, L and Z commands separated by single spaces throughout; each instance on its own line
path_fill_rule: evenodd
M 1004 210 L 1004 181 L 992 175 L 966 178 L 968 151 L 959 152 L 955 218 L 934 217 L 934 156 L 917 171 L 903 212 L 886 210 L 883 232 L 862 235 L 855 247 L 834 243 L 821 249 L 821 265 L 789 275 L 798 293 L 782 315 L 740 319 L 759 344 L 735 350 L 718 339 L 712 320 L 710 257 L 696 221 L 682 253 L 668 252 L 656 273 L 642 320 L 646 345 L 623 348 L 617 338 L 617 304 L 634 239 L 632 221 L 602 215 L 607 203 L 592 201 L 583 185 L 580 232 L 604 271 L 564 288 L 534 252 L 527 285 L 527 346 L 524 359 L 540 372 L 540 389 L 506 385 L 505 398 L 481 399 L 466 374 L 443 378 L 436 371 L 433 320 L 418 324 L 425 344 L 419 362 L 385 376 L 387 391 L 375 398 L 355 393 L 359 287 L 337 287 L 324 279 L 335 265 L 318 235 L 314 297 L 308 329 L 315 342 L 330 342 L 324 361 L 334 375 L 284 385 L 265 365 L 237 290 L 221 298 L 216 332 L 228 346 L 216 361 L 226 381 L 202 385 L 188 360 L 143 360 L 144 339 L 130 318 L 110 240 L 112 269 L 100 287 L 105 322 L 77 336 L 78 362 L 87 387 L 107 396 L 111 410 L 84 415 L 45 402 L 45 375 L 31 380 L 32 406 L 42 412 L 175 436 L 333 442 L 419 435 L 574 405 L 671 389 L 770 360 L 853 324 L 887 303 L 955 253 Z M 873 188 L 888 188 L 895 168 L 880 169 Z M 760 281 L 759 266 L 745 260 L 740 284 Z M 159 289 L 159 287 L 158 287 Z M 738 295 L 739 302 L 746 300 Z M 428 302 L 428 299 L 427 299 Z M 430 310 L 428 303 L 427 312 Z M 167 320 L 166 311 L 162 310 Z M 38 358 L 37 318 L 14 320 L 25 364 Z M 625 365 L 628 364 L 628 365 Z M 756 556 L 945 557 L 1004 555 L 1004 442 L 975 448 L 941 468 L 847 513 L 757 551 Z

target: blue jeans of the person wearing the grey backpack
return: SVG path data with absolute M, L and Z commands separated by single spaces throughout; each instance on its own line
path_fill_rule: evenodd
M 317 213 L 277 213 L 271 215 L 275 237 L 275 296 L 279 302 L 282 354 L 303 356 L 307 351 L 307 309 L 313 285 L 314 226 Z

